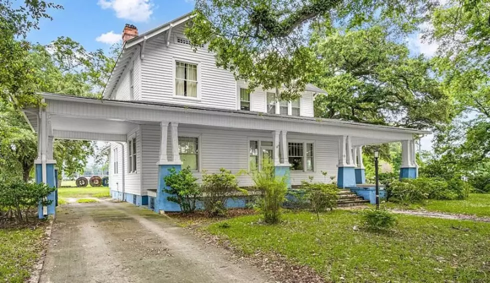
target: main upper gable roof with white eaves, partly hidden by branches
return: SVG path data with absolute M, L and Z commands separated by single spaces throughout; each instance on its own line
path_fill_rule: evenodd
M 169 22 L 166 22 L 162 25 L 159 25 L 158 27 L 155 27 L 153 29 L 150 29 L 144 33 L 139 34 L 138 36 L 131 38 L 124 42 L 122 45 L 122 50 L 121 53 L 119 54 L 119 57 L 117 57 L 117 61 L 114 65 L 114 68 L 112 69 L 112 72 L 110 73 L 109 79 L 107 80 L 107 83 L 105 84 L 104 90 L 102 92 L 102 97 L 103 98 L 108 98 L 108 96 L 112 93 L 114 88 L 117 86 L 122 74 L 126 70 L 127 64 L 131 61 L 134 52 L 137 50 L 137 46 L 139 44 L 144 44 L 144 42 L 152 37 L 155 37 L 157 35 L 160 35 L 163 32 L 166 32 L 168 30 L 171 31 L 171 28 L 174 26 L 177 26 L 179 24 L 182 24 L 186 22 L 187 20 L 191 19 L 194 17 L 192 15 L 192 12 L 188 12 L 184 15 L 181 15 Z M 305 86 L 306 91 L 312 91 L 312 92 L 318 92 L 318 93 L 326 93 L 324 90 L 322 90 L 319 87 L 316 87 L 310 83 L 306 84 Z

